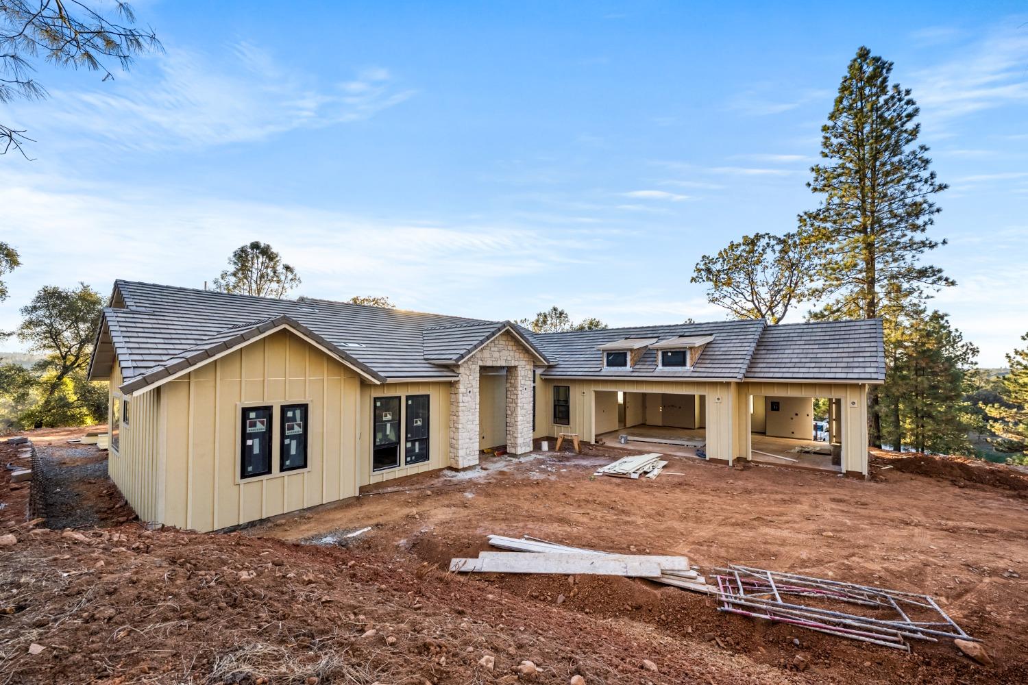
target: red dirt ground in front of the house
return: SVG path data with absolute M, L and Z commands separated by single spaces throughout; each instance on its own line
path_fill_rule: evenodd
M 1028 587 L 1016 577 L 1028 479 L 1012 489 L 970 473 L 954 487 L 894 460 L 859 482 L 687 458 L 653 482 L 591 479 L 607 461 L 490 458 L 233 534 L 127 524 L 77 539 L 8 526 L 19 541 L 0 548 L 2 682 L 1028 682 Z M 347 547 L 295 542 L 365 526 Z M 488 533 L 928 593 L 995 664 L 948 642 L 906 654 L 729 616 L 645 580 L 443 572 Z M 478 665 L 486 654 L 493 670 Z M 519 678 L 522 659 L 543 673 Z

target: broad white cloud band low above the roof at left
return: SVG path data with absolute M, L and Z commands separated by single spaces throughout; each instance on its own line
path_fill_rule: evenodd
M 528 222 L 370 219 L 2 170 L 0 205 L 5 223 L 32 227 L 17 236 L 25 266 L 9 279 L 0 330 L 16 325 L 16 304 L 44 282 L 83 279 L 106 291 L 122 277 L 201 287 L 254 239 L 296 267 L 301 294 L 340 298 L 373 287 L 404 306 L 453 313 L 484 312 L 509 298 L 505 279 L 601 264 L 611 244 L 591 225 L 554 231 Z

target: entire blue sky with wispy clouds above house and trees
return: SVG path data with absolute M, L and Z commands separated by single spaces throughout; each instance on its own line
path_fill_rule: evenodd
M 113 82 L 41 66 L 51 98 L 0 107 L 38 140 L 0 157 L 25 261 L 0 330 L 43 284 L 201 287 L 252 239 L 303 295 L 724 318 L 693 264 L 815 206 L 819 127 L 867 44 L 952 186 L 930 260 L 959 286 L 934 306 L 983 366 L 1028 331 L 1023 2 L 297 4 L 137 2 L 166 53 Z

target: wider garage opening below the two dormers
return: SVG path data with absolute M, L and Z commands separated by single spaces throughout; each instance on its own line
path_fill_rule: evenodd
M 625 447 L 634 450 L 705 454 L 704 394 L 596 390 L 593 407 L 596 439 L 604 443 L 618 443 L 625 435 Z

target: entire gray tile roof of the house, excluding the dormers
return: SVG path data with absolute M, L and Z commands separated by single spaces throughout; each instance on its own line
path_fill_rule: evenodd
M 114 353 L 133 391 L 278 326 L 289 326 L 377 380 L 455 378 L 449 368 L 506 327 L 551 363 L 545 376 L 683 380 L 884 379 L 881 321 L 767 327 L 763 320 L 534 334 L 510 321 L 384 309 L 331 300 L 274 300 L 118 280 L 89 365 L 110 374 Z M 123 306 L 121 306 L 123 305 Z M 596 347 L 629 337 L 713 336 L 692 369 L 657 369 L 647 349 L 629 370 L 603 370 Z

